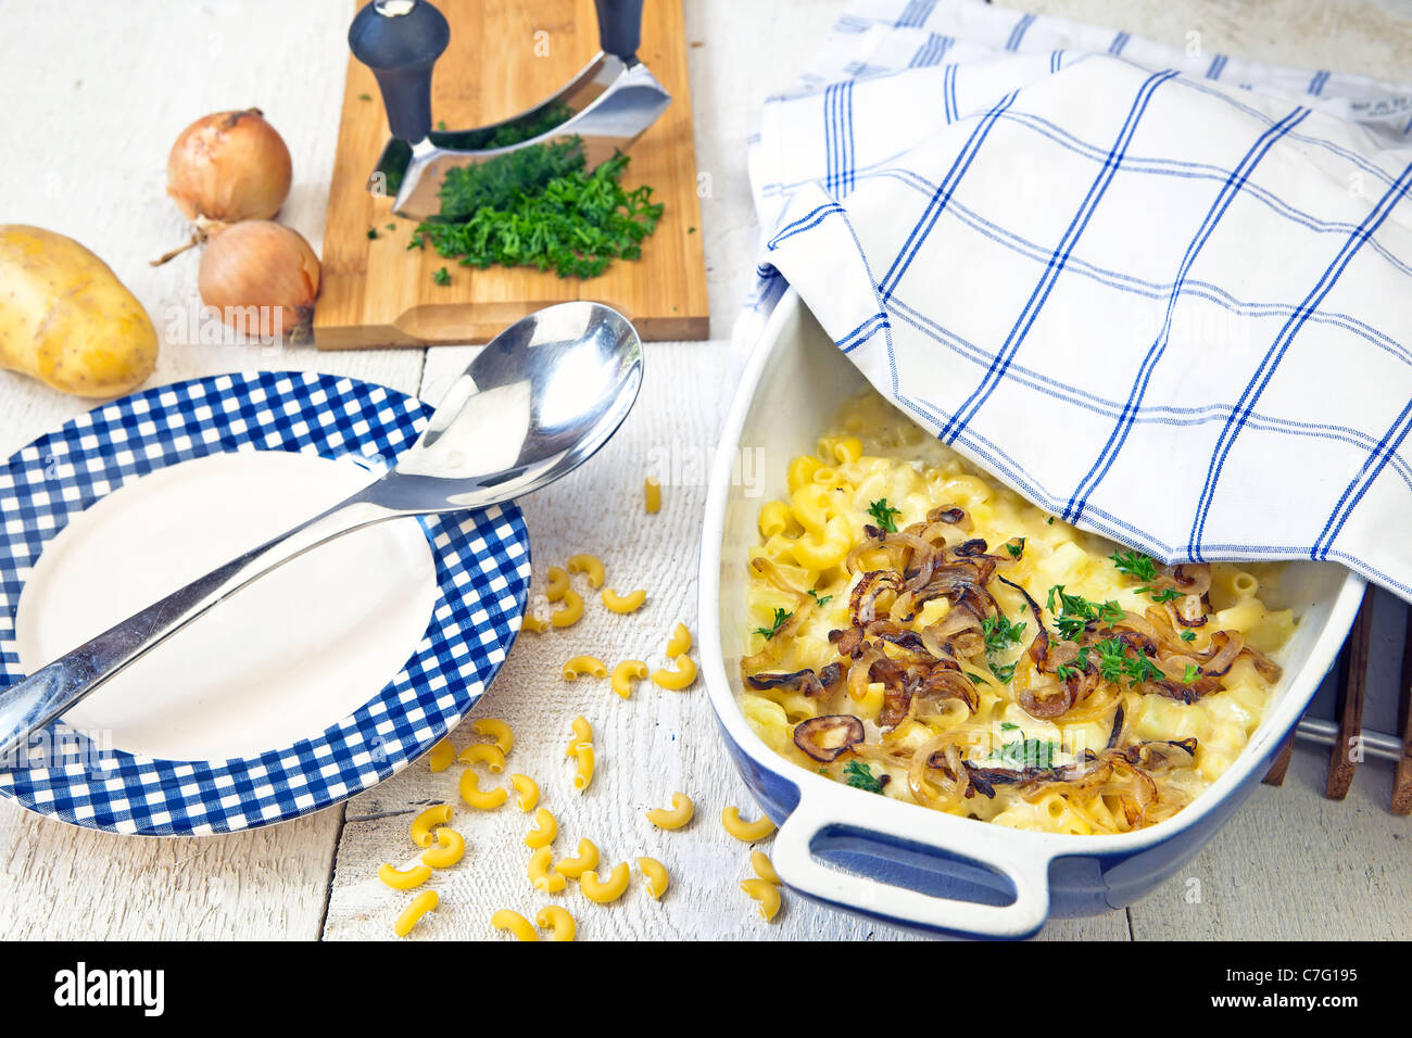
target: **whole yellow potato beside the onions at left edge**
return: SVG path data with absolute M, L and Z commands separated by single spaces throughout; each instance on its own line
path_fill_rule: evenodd
M 0 367 L 117 397 L 155 364 L 152 322 L 106 263 L 52 230 L 0 225 Z

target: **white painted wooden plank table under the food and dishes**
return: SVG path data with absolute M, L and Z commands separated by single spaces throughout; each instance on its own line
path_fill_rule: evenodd
M 1211 51 L 1412 79 L 1406 0 L 1017 6 L 1176 45 L 1195 30 Z M 613 443 L 586 469 L 522 503 L 539 575 L 576 551 L 597 551 L 610 580 L 645 586 L 652 597 L 633 617 L 590 609 L 568 631 L 527 634 L 476 715 L 514 726 L 513 770 L 539 778 L 569 842 L 590 836 L 611 861 L 651 853 L 672 871 L 675 885 L 662 904 L 651 902 L 640 884 L 607 909 L 576 891 L 562 897 L 583 938 L 897 938 L 892 929 L 798 898 L 771 926 L 754 917 L 736 888 L 736 877 L 748 871 L 746 847 L 717 822 L 723 804 L 748 805 L 748 795 L 699 688 L 678 695 L 645 686 L 620 702 L 602 684 L 570 685 L 558 674 L 575 651 L 607 660 L 658 652 L 678 620 L 695 621 L 702 480 L 743 360 L 727 338 L 755 241 L 743 164 L 747 124 L 758 99 L 785 86 L 819 45 L 846 0 L 688 0 L 686 7 L 696 150 L 710 186 L 702 232 L 714 339 L 651 345 L 642 397 Z M 79 239 L 114 267 L 160 329 L 174 315 L 185 321 L 198 304 L 196 256 L 147 266 L 185 237 L 162 193 L 167 150 L 196 116 L 257 105 L 294 154 L 295 185 L 281 219 L 319 246 L 346 62 L 346 0 L 49 0 L 0 4 L 0 112 L 8 141 L 0 164 L 3 219 Z M 154 381 L 313 369 L 436 400 L 466 359 L 463 349 L 284 349 L 271 356 L 189 343 L 176 333 L 164 343 Z M 85 407 L 0 376 L 0 452 L 8 455 Z M 666 487 L 655 518 L 644 518 L 638 504 L 650 470 L 676 483 Z M 1382 607 L 1391 628 L 1398 609 L 1391 602 Z M 1394 643 L 1384 637 L 1378 651 L 1394 654 Z M 1391 681 L 1395 664 L 1384 669 Z M 568 720 L 578 713 L 599 733 L 600 771 L 586 797 L 572 792 L 561 760 Z M 1412 828 L 1385 809 L 1389 771 L 1365 764 L 1348 801 L 1332 804 L 1320 794 L 1324 761 L 1322 751 L 1300 750 L 1284 788 L 1261 788 L 1180 876 L 1142 904 L 1104 918 L 1059 921 L 1045 936 L 1406 936 Z M 455 802 L 455 775 L 414 765 L 346 808 L 201 840 L 104 836 L 0 802 L 0 936 L 387 938 L 407 895 L 381 887 L 373 873 L 409 852 L 409 816 L 401 812 L 428 801 Z M 672 789 L 696 798 L 698 821 L 659 833 L 642 811 L 664 804 Z M 545 904 L 524 874 L 522 815 L 508 806 L 479 816 L 460 812 L 457 828 L 472 850 L 460 867 L 438 876 L 442 909 L 417 931 L 419 938 L 490 936 L 496 908 L 532 915 Z

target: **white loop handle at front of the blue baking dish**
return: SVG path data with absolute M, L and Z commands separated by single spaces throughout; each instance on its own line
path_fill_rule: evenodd
M 964 839 L 956 839 L 952 846 L 952 840 L 938 837 L 938 826 L 922 832 L 922 826 L 890 825 L 881 812 L 864 811 L 851 804 L 853 799 L 857 798 L 830 797 L 825 809 L 819 806 L 823 798 L 803 792 L 775 836 L 772 861 L 781 880 L 816 901 L 861 909 L 902 925 L 981 938 L 1028 938 L 1043 926 L 1049 917 L 1051 856 L 1036 853 L 1017 859 L 1014 846 L 997 839 L 1008 832 L 991 833 L 990 826 L 963 819 L 952 819 L 967 825 Z M 980 866 L 1004 877 L 1014 887 L 1015 900 L 994 905 L 940 897 L 834 869 L 815 854 L 815 845 L 827 842 L 830 833 L 874 845 L 880 857 L 887 857 L 890 847 L 908 847 L 935 857 L 939 864 Z

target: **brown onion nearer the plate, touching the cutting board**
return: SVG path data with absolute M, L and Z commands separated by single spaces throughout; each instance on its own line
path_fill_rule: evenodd
M 271 220 L 213 230 L 201 256 L 201 301 L 263 339 L 304 338 L 319 294 L 319 257 L 298 232 Z

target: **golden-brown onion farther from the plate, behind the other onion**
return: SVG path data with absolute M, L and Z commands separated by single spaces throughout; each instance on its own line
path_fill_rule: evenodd
M 270 219 L 288 198 L 292 177 L 289 148 L 260 109 L 198 119 L 167 157 L 167 193 L 201 229 Z

